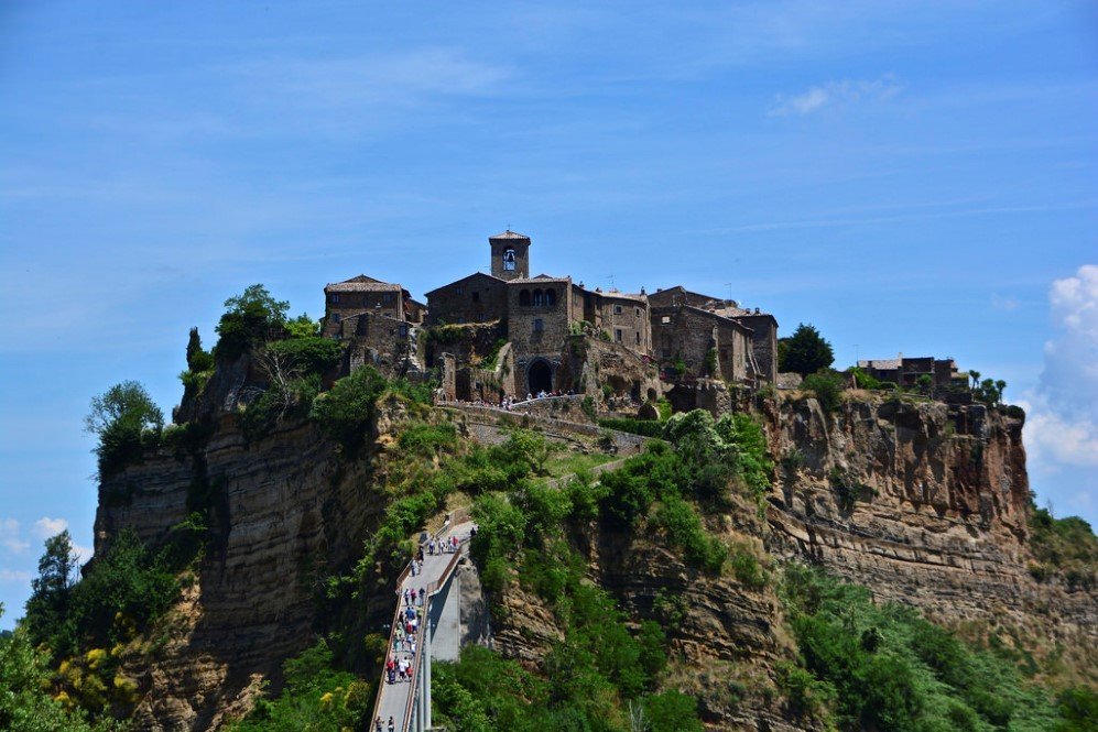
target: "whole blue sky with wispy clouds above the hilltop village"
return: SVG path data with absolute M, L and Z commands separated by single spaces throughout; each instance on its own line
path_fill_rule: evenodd
M 589 4 L 0 7 L 0 623 L 91 545 L 93 395 L 170 413 L 247 285 L 422 295 L 508 226 L 1004 379 L 1039 501 L 1098 518 L 1098 6 Z

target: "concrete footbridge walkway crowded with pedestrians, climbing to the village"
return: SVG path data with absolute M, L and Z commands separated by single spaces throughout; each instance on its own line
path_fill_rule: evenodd
M 407 660 L 412 664 L 412 669 L 414 673 L 420 670 L 420 665 L 423 663 L 422 651 L 423 651 L 423 636 L 424 633 L 428 633 L 427 627 L 428 613 L 427 613 L 427 602 L 430 598 L 424 602 L 422 607 L 422 613 L 420 616 L 423 619 L 420 621 L 420 626 L 414 635 L 415 640 L 415 654 L 411 653 L 409 647 L 409 641 L 404 641 L 402 644 L 402 649 L 400 652 L 395 651 L 396 642 L 396 629 L 402 625 L 404 620 L 404 613 L 409 605 L 404 601 L 404 590 L 425 590 L 431 593 L 438 590 L 439 586 L 444 580 L 448 579 L 449 575 L 453 573 L 455 567 L 457 566 L 457 560 L 468 551 L 469 548 L 469 534 L 472 529 L 472 522 L 466 521 L 453 526 L 444 526 L 443 529 L 435 535 L 435 538 L 443 539 L 443 542 L 456 536 L 460 542 L 458 550 L 456 553 L 444 553 L 444 554 L 427 554 L 427 545 L 423 544 L 423 571 L 418 575 L 413 576 L 410 568 L 406 568 L 404 572 L 401 573 L 396 583 L 396 612 L 393 615 L 392 631 L 389 635 L 389 654 L 385 658 L 392 658 L 393 662 L 400 662 L 402 659 Z M 416 605 L 412 605 L 416 608 Z M 417 675 L 417 674 L 416 674 Z M 391 717 L 395 724 L 393 726 L 398 732 L 405 732 L 409 729 L 409 723 L 411 720 L 412 709 L 412 692 L 414 689 L 414 684 L 411 681 L 411 674 L 405 677 L 404 681 L 398 680 L 395 684 L 389 682 L 389 674 L 385 669 L 382 669 L 381 686 L 379 690 L 378 701 L 374 704 L 374 720 L 377 717 L 381 718 L 382 731 L 388 732 L 389 730 L 389 718 Z M 399 676 L 398 676 L 399 679 Z M 374 730 L 374 721 L 370 723 L 371 732 Z

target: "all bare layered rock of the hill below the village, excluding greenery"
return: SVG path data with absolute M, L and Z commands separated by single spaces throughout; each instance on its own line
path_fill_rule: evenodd
M 249 438 L 236 414 L 247 373 L 230 376 L 206 390 L 216 398 L 181 408 L 203 425 L 193 439 L 100 487 L 97 549 L 126 527 L 155 543 L 196 507 L 210 517 L 195 584 L 150 634 L 159 640 L 127 662 L 141 689 L 142 728 L 216 728 L 226 713 L 247 710 L 262 680 L 276 679 L 281 662 L 309 644 L 324 620 L 320 580 L 357 558 L 388 506 L 379 472 L 405 420 L 400 402 L 381 409 L 369 449 L 348 459 L 306 418 Z M 849 393 L 835 414 L 814 398 L 781 395 L 758 398 L 753 409 L 779 467 L 762 514 L 737 499 L 727 514 L 707 517 L 728 545 L 763 567 L 819 562 L 970 636 L 994 633 L 1026 653 L 1058 653 L 1095 680 L 1098 598 L 1037 583 L 1026 571 L 1020 417 L 870 393 Z M 698 696 L 714 729 L 811 728 L 774 692 L 776 665 L 795 652 L 772 584 L 707 577 L 654 537 L 596 523 L 573 543 L 589 578 L 633 621 L 675 625 L 670 682 Z M 504 610 L 491 624 L 504 655 L 534 660 L 556 637 L 552 613 L 533 596 L 511 588 L 489 601 Z M 360 616 L 379 624 L 391 612 L 384 588 L 357 602 Z

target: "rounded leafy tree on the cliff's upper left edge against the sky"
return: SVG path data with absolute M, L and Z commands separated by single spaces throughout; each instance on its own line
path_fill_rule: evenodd
M 155 444 L 164 428 L 164 413 L 135 381 L 115 384 L 91 400 L 85 430 L 99 437 L 99 478 L 107 478 L 141 459 L 145 444 Z

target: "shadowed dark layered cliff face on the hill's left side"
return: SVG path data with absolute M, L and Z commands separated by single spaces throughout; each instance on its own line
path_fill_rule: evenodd
M 202 447 L 160 450 L 100 488 L 96 548 L 122 528 L 159 542 L 207 501 L 211 536 L 184 601 L 134 659 L 141 729 L 207 729 L 309 643 L 318 579 L 356 556 L 383 502 L 370 459 L 340 463 L 307 423 L 252 444 L 226 420 Z M 383 610 L 382 599 L 377 602 Z

